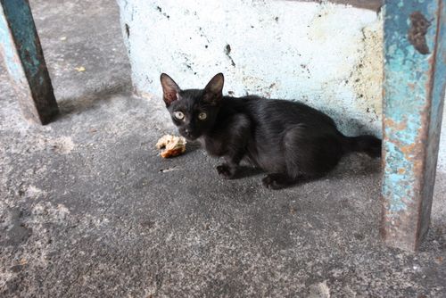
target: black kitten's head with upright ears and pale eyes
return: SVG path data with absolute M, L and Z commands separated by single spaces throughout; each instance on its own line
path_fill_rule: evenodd
M 201 137 L 215 123 L 223 97 L 224 77 L 215 75 L 204 89 L 181 90 L 167 74 L 161 74 L 162 98 L 181 136 Z

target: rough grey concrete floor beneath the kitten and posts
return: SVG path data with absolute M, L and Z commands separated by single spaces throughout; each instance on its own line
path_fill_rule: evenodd
M 269 191 L 254 170 L 220 179 L 194 145 L 162 160 L 174 129 L 130 93 L 116 4 L 30 2 L 62 114 L 24 121 L 0 69 L 0 296 L 446 296 L 444 170 L 412 254 L 379 240 L 380 161 Z

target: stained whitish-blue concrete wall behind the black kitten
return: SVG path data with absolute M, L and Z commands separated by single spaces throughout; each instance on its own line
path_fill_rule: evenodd
M 383 21 L 376 12 L 280 0 L 117 2 L 140 95 L 161 95 L 161 72 L 190 88 L 222 71 L 227 94 L 299 100 L 332 115 L 345 134 L 381 136 Z

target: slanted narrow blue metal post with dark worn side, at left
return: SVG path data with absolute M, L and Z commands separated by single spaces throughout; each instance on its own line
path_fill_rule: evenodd
M 0 52 L 26 119 L 48 123 L 58 113 L 28 0 L 0 0 Z

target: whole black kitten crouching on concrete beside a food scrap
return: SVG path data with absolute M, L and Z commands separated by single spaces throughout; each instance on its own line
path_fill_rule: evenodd
M 204 89 L 181 90 L 161 74 L 163 99 L 179 133 L 198 139 L 211 155 L 224 156 L 226 163 L 217 167 L 224 178 L 235 178 L 246 160 L 268 172 L 264 186 L 278 189 L 324 175 L 345 153 L 381 156 L 380 139 L 345 137 L 334 120 L 308 105 L 223 96 L 223 82 L 219 73 Z

